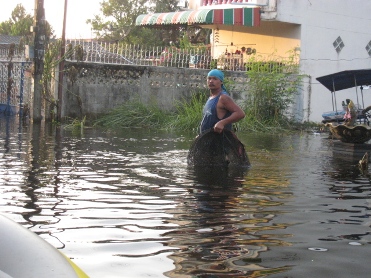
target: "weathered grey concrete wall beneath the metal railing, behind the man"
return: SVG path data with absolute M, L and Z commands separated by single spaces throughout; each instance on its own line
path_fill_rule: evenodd
M 62 117 L 95 118 L 139 98 L 167 110 L 194 91 L 205 90 L 209 70 L 153 66 L 65 63 Z M 247 74 L 224 72 L 234 100 L 246 98 Z

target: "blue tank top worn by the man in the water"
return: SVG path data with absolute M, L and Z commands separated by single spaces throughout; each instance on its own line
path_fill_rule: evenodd
M 216 105 L 218 104 L 219 98 L 222 94 L 228 95 L 227 92 L 223 91 L 221 92 L 217 97 L 208 99 L 205 103 L 202 115 L 202 121 L 200 126 L 200 133 L 204 132 L 207 129 L 213 128 L 214 125 L 219 122 L 220 120 L 223 120 L 231 115 L 231 113 L 228 111 L 223 119 L 218 118 L 218 114 L 216 112 Z M 232 130 L 232 124 L 225 125 L 225 129 Z

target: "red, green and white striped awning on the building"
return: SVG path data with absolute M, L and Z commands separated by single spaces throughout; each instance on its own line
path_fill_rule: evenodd
M 197 11 L 142 14 L 135 21 L 136 26 L 212 24 L 260 26 L 260 8 L 202 9 Z

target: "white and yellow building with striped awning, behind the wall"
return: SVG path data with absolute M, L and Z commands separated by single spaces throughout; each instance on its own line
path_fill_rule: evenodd
M 320 122 L 322 113 L 333 110 L 332 94 L 317 77 L 371 68 L 371 1 L 190 0 L 180 1 L 180 6 L 181 14 L 143 15 L 136 24 L 212 29 L 214 58 L 236 52 L 243 52 L 242 59 L 251 54 L 287 57 L 290 51 L 299 51 L 301 73 L 307 76 L 294 109 L 301 121 Z M 364 93 L 365 106 L 371 105 L 369 92 Z M 355 88 L 336 96 L 338 105 L 346 98 L 358 101 Z

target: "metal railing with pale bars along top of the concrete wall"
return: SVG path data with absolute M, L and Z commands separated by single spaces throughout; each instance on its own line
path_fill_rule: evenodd
M 8 50 L 0 49 L 0 60 L 8 58 Z M 246 71 L 252 66 L 255 70 L 277 71 L 283 64 L 272 61 L 249 62 L 251 53 L 224 53 L 219 57 L 212 57 L 210 48 L 191 47 L 180 49 L 170 47 L 150 47 L 142 45 L 126 45 L 121 43 L 101 42 L 95 40 L 67 40 L 66 60 L 84 61 L 91 63 L 109 63 L 122 65 L 145 65 L 178 68 L 218 68 L 230 71 Z M 24 51 L 16 49 L 13 60 L 24 60 Z M 253 64 L 253 65 L 252 65 Z

